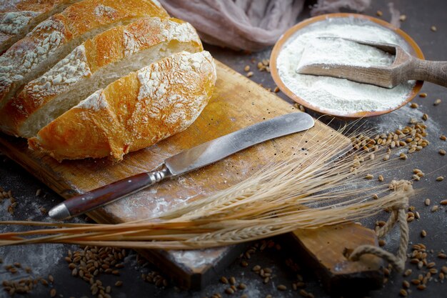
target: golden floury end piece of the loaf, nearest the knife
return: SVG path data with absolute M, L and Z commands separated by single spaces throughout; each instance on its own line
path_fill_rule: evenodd
M 91 94 L 29 139 L 58 159 L 120 160 L 188 127 L 216 81 L 211 55 L 182 52 L 132 72 Z

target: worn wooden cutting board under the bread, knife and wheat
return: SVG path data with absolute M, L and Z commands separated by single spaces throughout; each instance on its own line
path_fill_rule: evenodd
M 0 137 L 0 150 L 51 189 L 54 189 L 55 192 L 68 199 L 75 194 L 155 169 L 166 157 L 181 152 L 181 150 L 189 149 L 265 119 L 297 111 L 291 104 L 219 61 L 216 61 L 216 65 L 218 80 L 214 96 L 194 124 L 186 131 L 171 136 L 159 144 L 126 155 L 124 161 L 117 164 L 106 159 L 58 163 L 51 157 L 29 150 L 23 139 L 4 135 Z M 349 144 L 349 140 L 345 136 L 316 121 L 315 127 L 308 131 L 304 139 L 303 133 L 301 133 L 253 146 L 216 164 L 132 194 L 126 199 L 91 212 L 89 216 L 100 223 L 120 223 L 156 216 L 156 214 L 176 205 L 185 204 L 188 199 L 197 199 L 226 189 L 246 179 L 279 154 L 293 152 L 296 150 L 296 146 L 303 148 L 312 146 L 315 142 L 333 134 L 337 135 L 335 141 Z M 347 233 L 345 237 L 350 239 L 351 234 L 355 231 L 349 230 Z M 376 242 L 374 235 L 366 234 L 366 236 L 360 237 L 361 244 L 374 244 Z M 340 236 L 337 234 L 335 238 Z M 329 235 L 326 233 L 327 237 L 330 238 L 331 233 Z M 321 247 L 327 246 L 326 239 L 319 239 L 316 231 L 303 235 L 303 239 L 305 241 L 299 242 L 300 246 L 310 245 L 310 248 L 304 250 L 307 254 L 311 254 L 317 263 L 328 257 L 326 253 L 321 255 Z M 306 242 L 306 239 L 310 242 Z M 343 245 L 346 246 L 346 244 Z M 200 288 L 215 279 L 219 270 L 233 262 L 243 248 L 243 245 L 238 245 L 189 252 L 151 250 L 143 251 L 141 254 L 171 274 L 180 286 Z M 346 262 L 342 255 L 343 248 L 337 247 L 335 251 L 336 253 L 330 256 L 331 263 L 334 262 L 335 255 Z M 380 264 L 376 263 L 380 267 Z M 323 266 L 327 267 L 328 264 L 323 264 Z M 348 268 L 349 264 L 345 264 L 344 267 Z M 367 272 L 377 269 L 376 267 L 372 268 L 371 264 L 368 264 L 368 267 L 369 269 L 367 267 L 363 269 Z M 358 273 L 358 270 L 359 268 L 356 267 L 354 271 Z M 328 272 L 331 272 L 331 269 L 326 270 L 326 275 Z M 337 267 L 333 272 L 334 274 L 343 274 L 346 273 L 346 270 L 340 270 Z

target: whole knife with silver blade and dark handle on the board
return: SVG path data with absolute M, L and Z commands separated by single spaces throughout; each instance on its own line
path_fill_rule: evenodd
M 207 141 L 165 159 L 153 172 L 144 172 L 79 194 L 49 211 L 52 219 L 69 219 L 138 192 L 171 177 L 217 162 L 255 144 L 310 129 L 313 118 L 306 113 L 291 113 L 247 126 Z

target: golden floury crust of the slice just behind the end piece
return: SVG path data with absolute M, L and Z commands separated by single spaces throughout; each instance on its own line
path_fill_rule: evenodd
M 159 48 L 154 46 L 161 44 L 169 46 L 171 42 L 174 42 L 172 49 L 177 51 L 179 47 L 189 49 L 189 51 L 203 50 L 199 36 L 191 24 L 179 19 L 158 17 L 141 19 L 127 26 L 116 26 L 85 41 L 44 75 L 26 84 L 20 94 L 0 109 L 0 119 L 4 119 L 0 125 L 1 130 L 22 137 L 35 136 L 42 124 L 36 123 L 34 114 L 38 111 L 36 115 L 46 114 L 48 121 L 45 124 L 55 116 L 59 116 L 59 114 L 50 115 L 48 110 L 58 104 L 57 99 L 63 98 L 62 95 L 69 91 L 76 91 L 74 88 L 81 89 L 81 86 L 76 85 L 79 81 L 90 78 L 99 69 L 111 66 L 128 56 L 151 48 L 159 51 Z M 179 44 L 181 46 L 178 46 Z M 154 56 L 162 55 L 163 53 L 154 54 Z M 134 69 L 131 70 L 136 71 L 147 64 L 138 64 L 139 66 L 133 66 Z M 119 74 L 119 69 L 115 69 L 114 73 Z M 116 76 L 115 79 L 117 79 Z M 107 81 L 107 79 L 103 80 Z M 109 79 L 109 82 L 113 80 Z M 84 83 L 88 84 L 89 81 L 84 81 Z M 87 89 L 86 86 L 84 89 Z M 90 94 L 80 91 L 77 93 L 84 94 L 83 96 Z M 74 102 L 66 109 L 77 103 Z M 31 124 L 34 126 L 34 132 L 27 129 Z

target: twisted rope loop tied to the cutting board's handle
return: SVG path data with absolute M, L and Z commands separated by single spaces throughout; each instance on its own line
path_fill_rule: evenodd
M 401 239 L 399 243 L 398 252 L 396 255 L 391 254 L 391 252 L 387 252 L 385 249 L 381 249 L 380 247 L 376 247 L 373 245 L 360 245 L 351 253 L 349 258 L 351 261 L 358 261 L 363 254 L 373 254 L 377 257 L 385 259 L 393 268 L 395 268 L 398 272 L 403 272 L 405 269 L 406 262 L 406 251 L 408 249 L 408 222 L 406 221 L 406 209 L 401 208 L 393 211 L 393 213 L 388 218 L 381 229 L 377 232 L 377 237 L 385 236 L 391 228 L 396 224 L 396 221 L 399 224 L 399 229 L 401 232 Z

